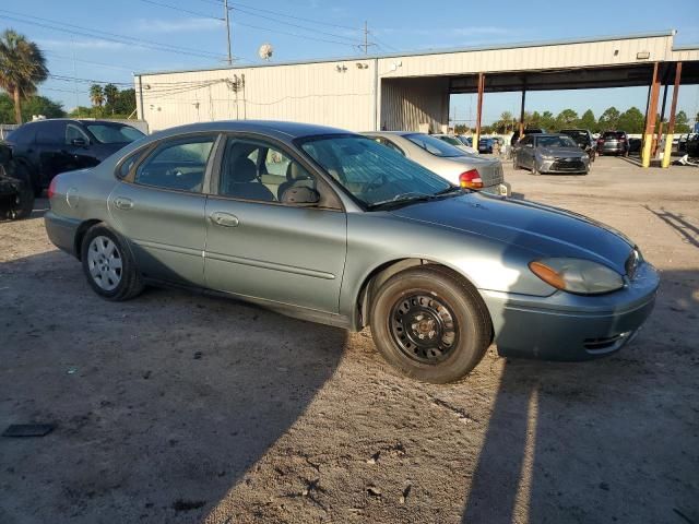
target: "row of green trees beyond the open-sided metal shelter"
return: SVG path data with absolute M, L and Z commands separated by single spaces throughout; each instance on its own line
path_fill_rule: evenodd
M 699 121 L 699 114 L 696 116 L 696 120 Z M 657 115 L 655 131 L 660 129 L 661 118 Z M 667 118 L 663 119 L 664 129 L 667 129 Z M 604 110 L 600 118 L 595 118 L 592 109 L 588 109 L 578 116 L 578 112 L 573 109 L 564 109 L 558 115 L 554 116 L 550 111 L 533 111 L 524 112 L 524 126 L 529 128 L 542 128 L 549 132 L 557 132 L 561 129 L 587 129 L 593 133 L 599 133 L 609 130 L 620 130 L 627 133 L 643 133 L 645 124 L 645 117 L 638 107 L 630 107 L 626 111 L 621 112 L 616 107 L 612 106 Z M 469 126 L 457 124 L 457 133 L 465 133 L 473 131 Z M 507 134 L 519 129 L 519 119 L 510 111 L 503 111 L 500 115 L 499 120 L 493 122 L 490 126 L 482 128 L 481 132 L 488 133 L 501 133 Z M 689 118 L 685 111 L 677 111 L 675 116 L 675 133 L 688 133 L 691 131 L 689 126 Z

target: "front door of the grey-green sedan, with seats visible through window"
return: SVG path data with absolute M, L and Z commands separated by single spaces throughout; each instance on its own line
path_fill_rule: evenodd
M 256 164 L 262 157 L 264 169 Z M 257 138 L 228 136 L 221 158 L 206 202 L 206 286 L 337 313 L 346 254 L 344 211 L 280 202 L 289 187 L 323 186 L 318 176 L 282 144 Z M 286 182 L 275 192 L 265 175 L 282 169 Z

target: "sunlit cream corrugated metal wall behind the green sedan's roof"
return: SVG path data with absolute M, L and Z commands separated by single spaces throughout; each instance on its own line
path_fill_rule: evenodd
M 143 117 L 151 131 L 226 119 L 370 130 L 375 64 L 356 60 L 143 75 Z M 135 88 L 138 94 L 139 78 Z

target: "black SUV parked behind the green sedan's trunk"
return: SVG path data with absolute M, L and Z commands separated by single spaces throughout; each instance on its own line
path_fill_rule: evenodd
M 59 172 L 96 166 L 143 136 L 138 129 L 119 122 L 49 119 L 21 126 L 7 142 L 14 158 L 28 169 L 38 196 Z

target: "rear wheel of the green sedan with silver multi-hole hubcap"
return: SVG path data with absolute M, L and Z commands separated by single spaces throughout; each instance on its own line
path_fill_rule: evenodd
M 81 260 L 87 283 L 107 300 L 129 300 L 143 290 L 131 250 L 104 224 L 94 225 L 83 237 Z

